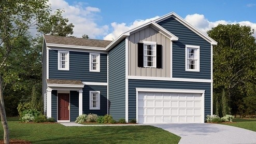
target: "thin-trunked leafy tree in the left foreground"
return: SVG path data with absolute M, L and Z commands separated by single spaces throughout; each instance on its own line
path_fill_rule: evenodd
M 0 69 L 15 49 L 15 40 L 30 28 L 44 25 L 50 15 L 50 7 L 45 0 L 2 0 L 0 4 Z M 9 130 L 0 76 L 0 115 L 4 128 L 4 143 L 9 143 Z

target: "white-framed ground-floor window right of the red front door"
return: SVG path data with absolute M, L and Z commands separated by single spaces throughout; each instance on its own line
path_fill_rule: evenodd
M 90 109 L 100 109 L 100 95 L 99 91 L 90 91 Z

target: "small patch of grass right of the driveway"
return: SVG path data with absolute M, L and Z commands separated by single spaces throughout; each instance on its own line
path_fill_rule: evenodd
M 221 123 L 225 125 L 236 126 L 249 129 L 256 132 L 256 119 L 233 119 L 233 123 Z

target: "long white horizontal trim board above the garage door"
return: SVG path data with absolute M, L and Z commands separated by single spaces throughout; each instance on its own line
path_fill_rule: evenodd
M 139 80 L 163 80 L 163 81 L 183 81 L 183 82 L 212 82 L 210 79 L 187 79 L 187 78 L 167 78 L 167 77 L 143 77 L 143 76 L 127 76 L 128 79 Z

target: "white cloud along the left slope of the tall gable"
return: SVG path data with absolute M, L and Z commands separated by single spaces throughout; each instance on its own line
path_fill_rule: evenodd
M 120 36 L 122 33 L 132 30 L 133 28 L 135 28 L 139 25 L 143 25 L 143 24 L 145 24 L 149 21 L 155 20 L 157 18 L 159 18 L 159 17 L 157 16 L 157 17 L 154 17 L 151 19 L 146 19 L 146 20 L 135 20 L 131 25 L 126 25 L 125 23 L 113 22 L 113 23 L 111 23 L 113 31 L 110 34 L 106 35 L 104 37 L 104 39 L 105 40 L 113 40 L 113 39 L 117 38 L 118 36 Z

